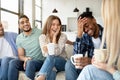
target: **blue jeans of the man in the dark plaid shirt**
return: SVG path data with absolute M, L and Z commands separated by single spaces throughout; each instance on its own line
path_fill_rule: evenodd
M 82 69 L 76 69 L 70 60 L 65 65 L 65 80 L 76 80 Z

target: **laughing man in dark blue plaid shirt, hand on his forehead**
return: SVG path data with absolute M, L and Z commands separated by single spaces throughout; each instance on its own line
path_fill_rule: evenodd
M 84 57 L 77 58 L 72 64 L 70 60 L 65 66 L 66 80 L 76 80 L 84 66 L 91 63 L 91 58 L 94 51 L 93 38 L 99 37 L 99 26 L 95 18 L 84 12 L 78 17 L 78 33 L 74 43 L 74 54 L 83 54 Z M 100 39 L 100 38 L 99 38 Z M 85 57 L 87 55 L 87 57 Z M 77 68 L 75 68 L 77 66 Z

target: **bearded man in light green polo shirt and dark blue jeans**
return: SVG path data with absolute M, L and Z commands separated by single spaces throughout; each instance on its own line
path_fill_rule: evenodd
M 25 71 L 26 76 L 34 80 L 35 72 L 40 70 L 45 59 L 39 45 L 41 30 L 31 28 L 26 15 L 19 18 L 18 24 L 23 31 L 16 40 L 19 59 L 10 61 L 8 80 L 18 80 L 19 71 Z

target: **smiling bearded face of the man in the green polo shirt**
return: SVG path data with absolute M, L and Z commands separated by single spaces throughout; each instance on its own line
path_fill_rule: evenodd
M 31 31 L 31 25 L 30 25 L 29 19 L 25 17 L 19 19 L 19 28 L 24 32 Z

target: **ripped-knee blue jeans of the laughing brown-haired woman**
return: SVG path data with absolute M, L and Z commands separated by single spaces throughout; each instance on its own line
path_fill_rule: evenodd
M 40 69 L 38 75 L 44 75 L 46 77 L 46 80 L 55 80 L 56 74 L 52 75 L 51 78 L 50 75 L 51 73 L 55 72 L 53 68 L 56 68 L 57 72 L 64 71 L 65 70 L 65 63 L 66 60 L 60 56 L 47 56 L 45 59 L 45 62 Z

